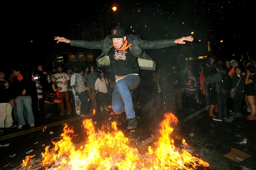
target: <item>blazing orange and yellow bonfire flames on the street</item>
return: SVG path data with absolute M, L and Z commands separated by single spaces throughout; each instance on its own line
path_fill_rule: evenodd
M 117 130 L 117 123 L 112 123 L 113 131 L 106 133 L 98 129 L 96 133 L 91 119 L 83 120 L 83 127 L 88 135 L 87 141 L 76 148 L 72 143 L 74 131 L 65 124 L 61 134 L 62 139 L 52 142 L 54 149 L 46 146 L 42 153 L 42 160 L 34 165 L 33 156 L 27 156 L 22 163 L 22 169 L 46 170 L 193 170 L 198 166 L 210 166 L 205 161 L 193 157 L 184 147 L 176 149 L 171 138 L 173 128 L 171 123 L 178 119 L 172 113 L 166 113 L 165 119 L 160 123 L 160 135 L 154 148 L 148 147 L 148 153 L 140 154 L 137 148 L 129 147 L 128 138 Z

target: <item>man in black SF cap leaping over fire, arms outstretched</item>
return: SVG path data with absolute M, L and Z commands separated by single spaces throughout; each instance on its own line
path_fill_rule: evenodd
M 55 37 L 54 40 L 57 43 L 70 43 L 71 46 L 102 50 L 102 54 L 96 58 L 98 67 L 107 67 L 115 74 L 116 84 L 112 93 L 113 112 L 115 114 L 125 112 L 129 120 L 127 129 L 135 129 L 138 122 L 130 90 L 139 85 L 139 69 L 156 69 L 156 63 L 144 50 L 186 44 L 186 41 L 192 42 L 194 38 L 187 36 L 179 39 L 146 41 L 137 35 L 126 35 L 124 28 L 117 26 L 111 29 L 111 35 L 99 41 L 69 40 L 64 37 Z

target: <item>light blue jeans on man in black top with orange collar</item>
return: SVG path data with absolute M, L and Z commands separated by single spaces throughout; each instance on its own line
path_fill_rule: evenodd
M 34 116 L 32 112 L 32 100 L 30 96 L 18 96 L 18 101 L 16 104 L 17 107 L 17 115 L 19 118 L 19 125 L 25 125 L 26 122 L 24 120 L 24 107 L 26 109 L 26 116 L 28 116 L 28 124 L 34 123 Z

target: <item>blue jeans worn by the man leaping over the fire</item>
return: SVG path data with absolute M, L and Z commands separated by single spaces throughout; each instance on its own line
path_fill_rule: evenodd
M 112 109 L 114 113 L 121 114 L 125 111 L 127 119 L 135 117 L 130 90 L 135 89 L 139 82 L 139 76 L 131 74 L 117 81 L 112 93 Z

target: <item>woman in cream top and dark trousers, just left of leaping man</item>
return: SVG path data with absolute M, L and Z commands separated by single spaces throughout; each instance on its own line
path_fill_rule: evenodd
M 96 96 L 98 99 L 98 103 L 100 106 L 100 111 L 109 111 L 107 105 L 107 95 L 108 95 L 108 80 L 104 78 L 104 71 L 99 72 L 99 76 L 95 81 L 95 89 L 96 89 Z

